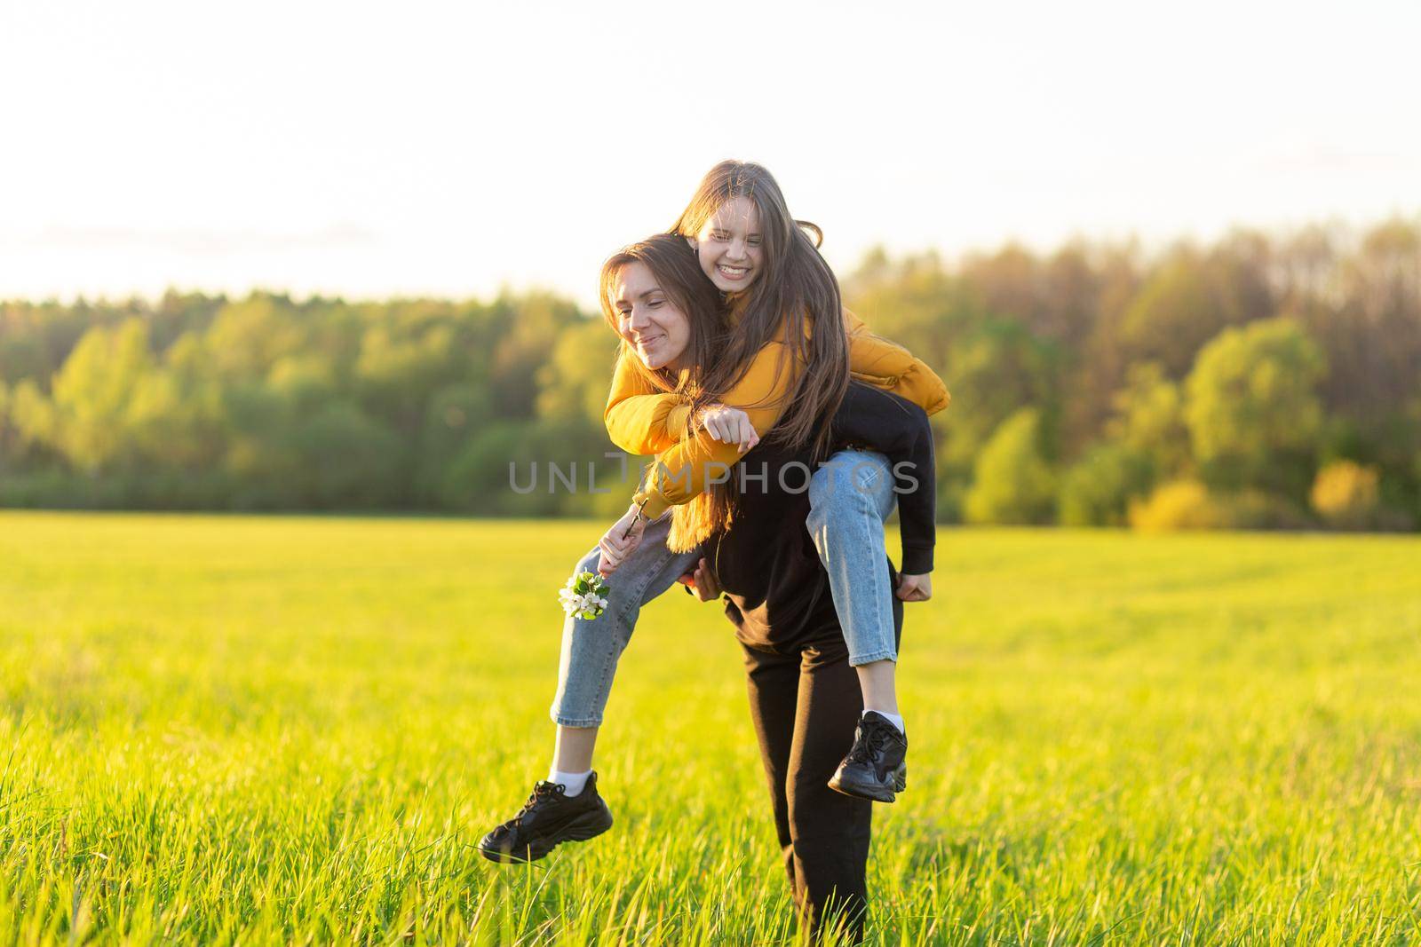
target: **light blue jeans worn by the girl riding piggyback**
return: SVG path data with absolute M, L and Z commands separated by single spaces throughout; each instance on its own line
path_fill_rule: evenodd
M 810 514 L 804 525 L 828 572 L 834 611 L 848 643 L 848 663 L 897 660 L 892 588 L 884 555 L 884 520 L 892 513 L 894 477 L 882 454 L 841 450 L 809 483 Z M 607 609 L 595 619 L 563 622 L 557 696 L 550 710 L 563 727 L 598 727 L 611 694 L 617 662 L 637 628 L 641 606 L 695 571 L 699 549 L 666 548 L 671 514 L 647 524 L 641 544 L 622 559 L 607 593 Z M 593 548 L 578 572 L 595 572 L 601 551 Z

